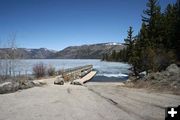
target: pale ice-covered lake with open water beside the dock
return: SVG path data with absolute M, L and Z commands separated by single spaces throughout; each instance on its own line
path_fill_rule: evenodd
M 92 64 L 97 71 L 91 81 L 117 81 L 128 78 L 130 65 L 120 62 L 105 62 L 99 59 L 28 59 L 20 60 L 18 67 L 21 71 L 32 73 L 32 68 L 37 63 L 44 63 L 46 66 L 53 66 L 56 70 L 72 68 Z

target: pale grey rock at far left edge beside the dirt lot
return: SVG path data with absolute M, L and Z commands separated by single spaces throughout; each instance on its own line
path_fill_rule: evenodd
M 4 82 L 0 84 L 0 94 L 14 92 L 19 89 L 18 82 Z

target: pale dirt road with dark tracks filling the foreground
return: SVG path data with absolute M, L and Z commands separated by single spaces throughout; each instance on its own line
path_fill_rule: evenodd
M 163 120 L 180 96 L 117 84 L 49 84 L 0 95 L 0 120 Z

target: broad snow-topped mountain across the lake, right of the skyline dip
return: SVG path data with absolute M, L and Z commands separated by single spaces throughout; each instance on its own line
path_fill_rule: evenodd
M 92 45 L 70 46 L 56 53 L 56 58 L 63 59 L 100 59 L 104 53 L 113 50 L 119 52 L 125 46 L 120 43 L 100 43 Z

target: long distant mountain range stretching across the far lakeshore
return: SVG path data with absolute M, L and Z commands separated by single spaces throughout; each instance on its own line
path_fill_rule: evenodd
M 17 48 L 22 59 L 99 59 L 104 53 L 110 54 L 113 50 L 120 51 L 125 46 L 120 43 L 99 43 L 91 45 L 70 46 L 61 51 L 46 48 L 26 49 Z M 8 55 L 9 48 L 0 48 L 0 58 Z

